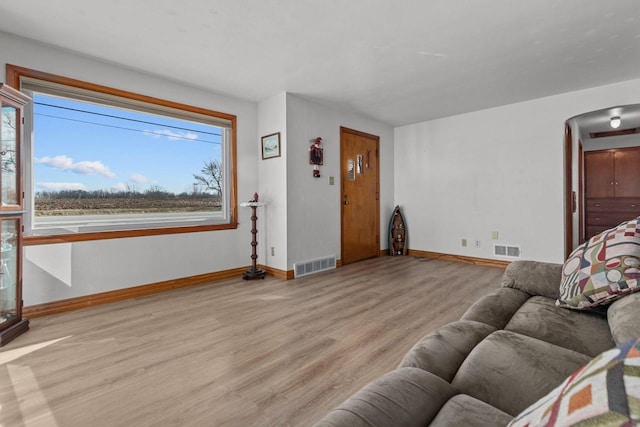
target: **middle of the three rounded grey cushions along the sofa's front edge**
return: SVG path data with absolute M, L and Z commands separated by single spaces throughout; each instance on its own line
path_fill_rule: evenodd
M 469 352 L 496 328 L 484 323 L 458 320 L 444 325 L 418 341 L 404 356 L 400 367 L 414 367 L 451 382 Z

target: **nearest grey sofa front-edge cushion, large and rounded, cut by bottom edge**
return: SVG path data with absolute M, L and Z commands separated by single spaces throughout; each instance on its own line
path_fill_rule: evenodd
M 315 427 L 425 426 L 455 394 L 430 372 L 400 368 L 358 391 Z

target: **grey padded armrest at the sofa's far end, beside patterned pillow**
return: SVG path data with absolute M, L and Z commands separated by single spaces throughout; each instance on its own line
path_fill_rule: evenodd
M 557 299 L 560 296 L 562 265 L 538 261 L 515 261 L 502 276 L 502 286 L 530 295 Z

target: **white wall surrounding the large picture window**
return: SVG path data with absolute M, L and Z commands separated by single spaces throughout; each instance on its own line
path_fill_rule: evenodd
M 0 52 L 0 81 L 6 78 L 4 64 L 11 63 L 235 114 L 239 199 L 253 195 L 258 188 L 256 104 L 4 33 L 0 33 Z M 249 216 L 248 210 L 239 208 L 237 230 L 26 247 L 24 303 L 39 304 L 249 265 Z

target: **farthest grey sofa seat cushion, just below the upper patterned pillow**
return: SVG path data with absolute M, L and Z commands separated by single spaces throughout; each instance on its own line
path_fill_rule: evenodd
M 545 297 L 528 299 L 504 329 L 591 357 L 616 346 L 606 315 L 562 310 L 553 299 Z

